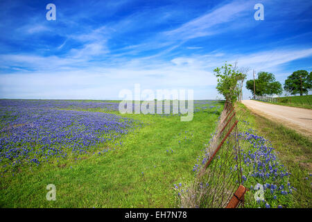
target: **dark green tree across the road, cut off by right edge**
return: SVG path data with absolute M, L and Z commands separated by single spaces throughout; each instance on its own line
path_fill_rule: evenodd
M 312 71 L 306 70 L 294 71 L 291 76 L 288 76 L 284 83 L 284 90 L 292 95 L 295 94 L 308 94 L 312 89 Z

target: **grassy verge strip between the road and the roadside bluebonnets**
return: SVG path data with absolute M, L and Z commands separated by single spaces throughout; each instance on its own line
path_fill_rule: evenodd
M 241 103 L 236 105 L 236 114 L 238 119 L 250 122 L 258 135 L 270 140 L 279 160 L 292 173 L 289 182 L 297 191 L 294 191 L 291 206 L 311 207 L 311 139 L 250 112 Z

